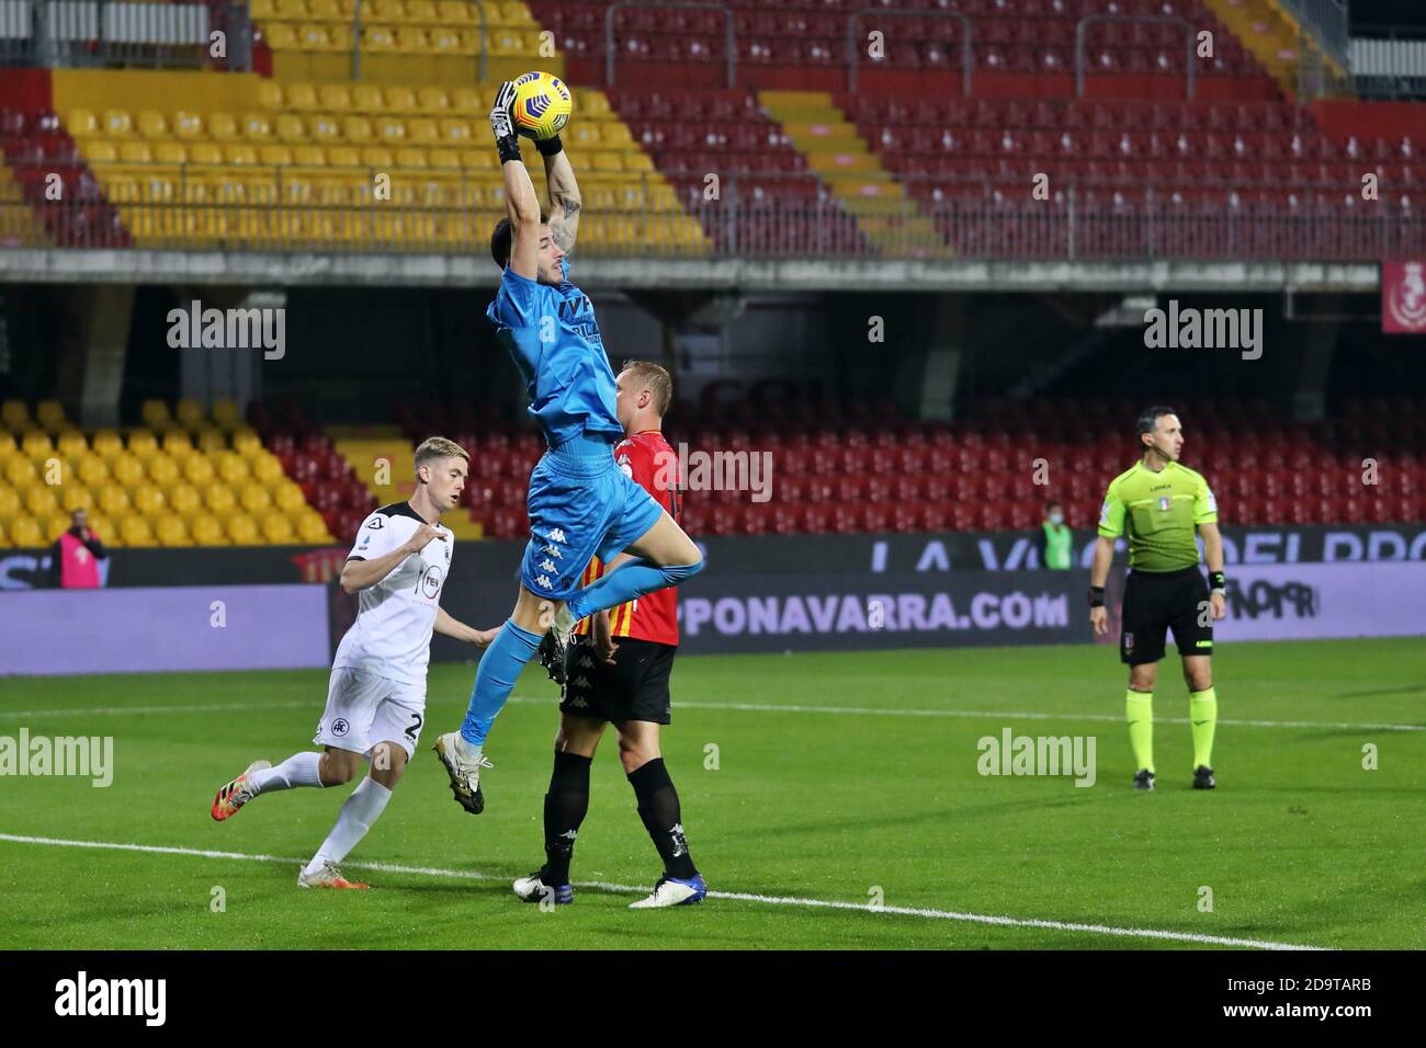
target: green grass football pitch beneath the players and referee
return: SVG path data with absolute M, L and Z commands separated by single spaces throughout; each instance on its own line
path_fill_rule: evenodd
M 1155 696 L 1159 788 L 1142 794 L 1128 788 L 1112 649 L 680 657 L 665 757 L 693 857 L 712 890 L 780 901 L 666 911 L 630 911 L 637 895 L 613 887 L 647 888 L 659 868 L 612 734 L 595 760 L 575 905 L 546 913 L 511 894 L 542 861 L 558 714 L 538 667 L 491 736 L 479 817 L 451 800 L 429 753 L 459 723 L 473 667 L 432 670 L 421 749 L 347 863 L 368 893 L 301 891 L 297 861 L 13 840 L 305 860 L 349 787 L 260 797 L 224 824 L 208 804 L 248 761 L 311 749 L 325 672 L 0 679 L 0 736 L 116 747 L 108 788 L 0 777 L 0 927 L 9 948 L 1222 948 L 1114 928 L 1426 947 L 1426 639 L 1228 644 L 1214 662 L 1219 788 L 1188 788 L 1188 697 L 1171 653 Z M 1005 727 L 1094 736 L 1097 783 L 978 774 L 977 740 Z M 940 915 L 871 910 L 877 891 L 886 907 Z

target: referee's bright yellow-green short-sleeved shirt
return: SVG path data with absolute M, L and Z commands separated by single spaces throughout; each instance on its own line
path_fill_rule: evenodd
M 1202 473 L 1169 462 L 1159 472 L 1142 461 L 1109 482 L 1099 535 L 1129 543 L 1129 567 L 1176 572 L 1198 563 L 1195 529 L 1218 523 L 1218 500 Z

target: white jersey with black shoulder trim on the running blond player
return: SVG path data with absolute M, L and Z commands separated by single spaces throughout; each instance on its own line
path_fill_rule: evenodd
M 356 532 L 348 560 L 375 560 L 398 549 L 425 523 L 408 502 L 382 506 Z M 332 667 L 359 667 L 388 680 L 425 683 L 431 662 L 431 633 L 436 625 L 441 587 L 451 570 L 451 529 L 432 539 L 421 553 L 396 565 L 374 586 L 358 593 L 356 622 L 337 646 Z

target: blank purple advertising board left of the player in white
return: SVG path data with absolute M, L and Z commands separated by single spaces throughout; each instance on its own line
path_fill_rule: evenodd
M 0 596 L 0 676 L 329 666 L 327 586 Z

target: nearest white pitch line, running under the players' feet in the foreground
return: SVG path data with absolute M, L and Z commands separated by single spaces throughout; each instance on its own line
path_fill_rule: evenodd
M 287 858 L 284 856 L 252 856 L 244 851 L 215 851 L 208 848 L 178 848 L 158 844 L 118 844 L 113 841 L 71 841 L 58 837 L 26 837 L 21 834 L 0 833 L 0 841 L 14 844 L 47 844 L 64 848 L 107 848 L 111 851 L 141 851 L 160 856 L 194 856 L 197 858 L 235 858 L 252 863 L 285 863 L 289 865 L 304 865 L 302 858 Z M 424 874 L 428 877 L 455 877 L 473 881 L 496 881 L 503 877 L 475 873 L 471 870 L 443 870 L 429 865 L 398 865 L 395 863 L 342 863 L 352 870 L 374 870 L 376 873 Z M 609 884 L 605 881 L 575 881 L 576 888 L 593 888 L 619 894 L 643 894 L 646 887 L 633 884 Z M 1302 945 L 1299 942 L 1273 942 L 1261 938 L 1232 938 L 1229 935 L 1201 935 L 1192 931 L 1162 931 L 1159 928 L 1115 928 L 1108 924 L 1078 924 L 1074 921 L 1044 921 L 1021 917 L 995 917 L 992 914 L 967 914 L 954 910 L 925 910 L 904 905 L 871 907 L 867 903 L 837 903 L 824 898 L 797 898 L 794 895 L 759 895 L 746 891 L 710 891 L 709 898 L 727 898 L 740 903 L 761 903 L 766 905 L 791 905 L 823 910 L 854 910 L 857 913 L 896 914 L 898 917 L 925 917 L 938 921 L 965 921 L 970 924 L 995 924 L 1008 928 L 1048 928 L 1051 931 L 1085 931 L 1094 935 L 1119 935 L 1125 938 L 1152 938 L 1169 942 L 1202 942 L 1205 945 L 1246 947 L 1252 950 L 1323 950 L 1325 947 Z

